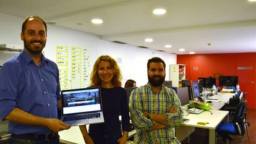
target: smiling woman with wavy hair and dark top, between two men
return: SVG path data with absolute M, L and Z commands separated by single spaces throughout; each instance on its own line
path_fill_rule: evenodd
M 89 133 L 85 125 L 80 125 L 85 143 L 126 143 L 130 117 L 126 91 L 121 87 L 121 79 L 120 69 L 112 57 L 103 55 L 96 59 L 91 74 L 91 86 L 101 87 L 105 122 L 90 124 Z M 119 114 L 122 116 L 122 130 Z

